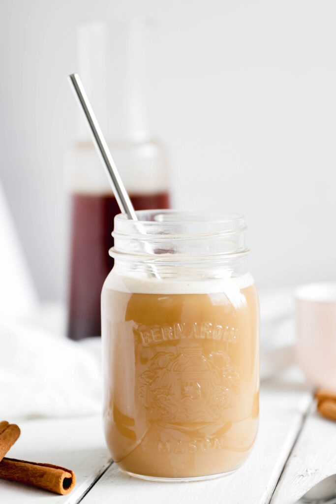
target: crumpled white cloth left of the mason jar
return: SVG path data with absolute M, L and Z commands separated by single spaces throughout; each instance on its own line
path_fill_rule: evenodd
M 100 338 L 73 342 L 23 323 L 0 323 L 0 417 L 101 413 Z

